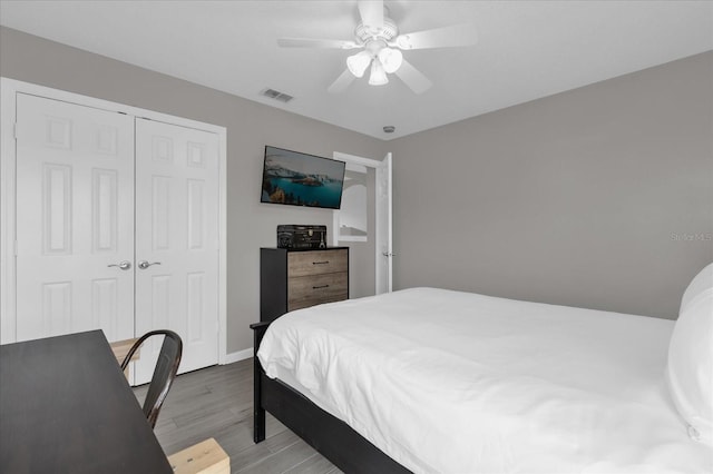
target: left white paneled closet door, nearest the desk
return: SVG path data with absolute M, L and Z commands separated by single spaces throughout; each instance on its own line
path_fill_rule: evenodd
M 134 335 L 134 119 L 18 93 L 17 340 Z M 125 265 L 126 267 L 126 265 Z

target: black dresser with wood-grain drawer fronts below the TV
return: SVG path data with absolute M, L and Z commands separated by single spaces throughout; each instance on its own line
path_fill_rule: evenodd
M 260 320 L 349 298 L 349 247 L 260 249 Z

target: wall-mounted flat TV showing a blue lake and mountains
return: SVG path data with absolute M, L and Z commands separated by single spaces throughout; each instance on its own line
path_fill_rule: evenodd
M 265 147 L 261 203 L 339 209 L 344 161 Z

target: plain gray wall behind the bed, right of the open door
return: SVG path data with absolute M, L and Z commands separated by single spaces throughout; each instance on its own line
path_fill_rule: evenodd
M 394 140 L 395 287 L 675 318 L 712 137 L 707 52 Z

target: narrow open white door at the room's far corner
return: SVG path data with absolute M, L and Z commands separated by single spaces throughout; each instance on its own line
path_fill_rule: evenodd
M 389 152 L 377 168 L 377 295 L 393 289 L 392 177 Z

